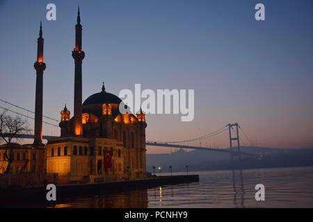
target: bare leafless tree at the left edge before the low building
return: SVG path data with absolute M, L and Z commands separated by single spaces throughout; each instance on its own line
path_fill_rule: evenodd
M 13 158 L 13 141 L 18 140 L 19 134 L 28 134 L 31 130 L 28 128 L 26 119 L 22 119 L 19 115 L 10 117 L 6 114 L 7 110 L 3 110 L 0 114 L 0 142 L 6 144 L 6 151 L 4 153 L 6 160 L 8 160 L 8 167 L 5 173 L 10 173 Z

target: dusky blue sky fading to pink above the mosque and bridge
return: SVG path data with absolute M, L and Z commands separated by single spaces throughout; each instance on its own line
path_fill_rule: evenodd
M 56 21 L 46 19 L 48 3 L 56 4 Z M 255 20 L 257 3 L 265 6 L 265 21 Z M 83 100 L 102 82 L 117 95 L 136 83 L 195 90 L 193 121 L 147 115 L 147 140 L 191 139 L 238 122 L 258 146 L 313 147 L 312 0 L 0 0 L 0 99 L 34 110 L 42 20 L 43 112 L 60 119 L 65 103 L 73 111 L 78 4 Z M 45 126 L 44 133 L 58 129 Z M 202 145 L 229 146 L 227 132 Z

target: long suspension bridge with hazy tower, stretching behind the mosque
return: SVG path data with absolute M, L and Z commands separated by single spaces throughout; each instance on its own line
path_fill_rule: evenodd
M 15 105 L 14 103 L 10 103 L 8 101 L 0 99 L 0 110 L 6 110 L 6 112 L 13 113 L 15 115 L 18 115 L 20 117 L 24 117 L 27 119 L 29 123 L 34 121 L 33 115 L 35 112 L 22 108 L 19 105 Z M 59 131 L 60 128 L 58 126 L 58 123 L 60 122 L 57 119 L 43 116 L 44 120 L 42 121 L 43 124 L 43 139 L 53 139 L 56 137 L 59 137 Z M 212 138 L 216 138 L 220 135 L 227 134 L 227 137 L 229 137 L 230 140 L 230 147 L 227 148 L 219 148 L 216 145 L 216 140 L 214 139 L 213 146 L 211 145 Z M 244 136 L 243 138 L 239 137 L 239 132 Z M 232 136 L 232 134 L 235 133 L 235 136 Z M 33 135 L 16 135 L 17 138 L 20 139 L 33 139 Z M 233 142 L 236 142 L 236 146 L 233 146 Z M 241 155 L 254 155 L 251 153 L 244 153 L 240 150 L 240 144 L 243 144 L 244 146 L 247 146 L 247 144 L 251 144 L 252 139 L 248 137 L 248 135 L 243 131 L 241 126 L 239 126 L 239 123 L 229 123 L 221 128 L 218 128 L 217 130 L 212 131 L 211 133 L 207 133 L 205 135 L 202 135 L 200 137 L 195 137 L 192 139 L 186 139 L 181 141 L 173 141 L 173 142 L 155 142 L 155 141 L 146 141 L 146 146 L 154 146 L 154 147 L 160 147 L 160 148 L 174 148 L 175 150 L 179 148 L 183 149 L 190 149 L 190 150 L 202 150 L 202 151 L 217 151 L 217 152 L 223 152 L 223 153 L 231 153 L 231 157 L 233 156 L 239 156 Z M 205 144 L 205 145 L 203 145 Z M 210 145 L 209 145 L 210 144 Z

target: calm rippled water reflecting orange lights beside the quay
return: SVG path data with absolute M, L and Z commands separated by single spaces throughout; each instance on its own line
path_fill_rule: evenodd
M 49 207 L 313 207 L 313 167 L 193 173 L 199 182 L 68 199 Z M 265 201 L 255 200 L 259 183 L 265 186 Z

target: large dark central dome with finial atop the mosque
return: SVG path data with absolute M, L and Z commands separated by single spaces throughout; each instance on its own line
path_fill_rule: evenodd
M 106 92 L 104 86 L 102 86 L 102 92 L 98 92 L 96 94 L 89 96 L 83 102 L 83 105 L 103 104 L 103 103 L 120 104 L 120 102 L 122 102 L 122 100 L 118 96 L 115 96 L 114 94 Z

